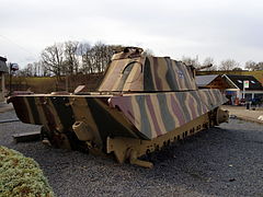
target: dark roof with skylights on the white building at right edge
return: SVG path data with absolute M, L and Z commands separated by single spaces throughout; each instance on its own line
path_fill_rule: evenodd
M 227 80 L 230 80 L 237 88 L 240 90 L 243 89 L 243 81 L 249 81 L 249 88 L 245 90 L 262 90 L 263 86 L 253 76 L 233 76 L 233 74 L 224 74 Z

